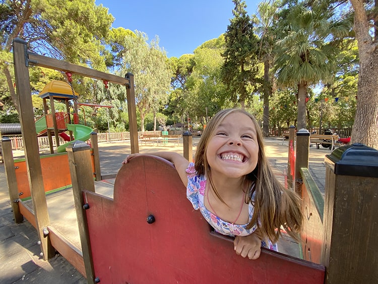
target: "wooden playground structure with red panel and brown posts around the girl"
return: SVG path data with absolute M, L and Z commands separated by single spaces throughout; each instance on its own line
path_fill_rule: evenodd
M 62 167 L 69 169 L 78 223 L 75 232 L 80 236 L 80 244 L 73 244 L 62 234 L 64 229 L 57 230 L 50 222 L 51 208 L 45 195 L 48 177 L 44 175 L 44 158 L 36 154 L 28 66 L 71 72 L 127 87 L 131 152 L 137 153 L 133 75 L 122 78 L 29 53 L 27 43 L 20 39 L 14 40 L 13 47 L 26 157 L 23 166 L 27 177 L 23 180 L 27 179 L 32 210 L 26 210 L 28 205 L 20 199 L 12 149 L 7 138 L 3 138 L 7 182 L 15 221 L 21 222 L 25 217 L 35 226 L 44 259 L 59 252 L 86 276 L 88 283 L 372 283 L 378 278 L 378 151 L 350 145 L 339 148 L 339 156 L 327 155 L 327 189 L 323 198 L 306 171 L 309 135 L 301 131 L 296 134 L 297 154 L 296 160 L 292 160 L 295 171 L 290 184 L 302 195 L 307 217 L 302 234 L 304 259 L 267 249 L 255 261 L 236 255 L 232 241 L 212 232 L 201 213 L 194 211 L 186 200 L 174 166 L 157 157 L 141 155 L 122 165 L 114 186 L 107 188 L 110 194 L 102 193 L 98 187 L 104 177 L 97 173 L 100 169 L 96 165 L 99 162 L 95 134 L 91 135 L 93 149 L 75 141 L 67 146 L 67 155 L 51 154 L 51 161 L 46 163 L 53 163 L 55 155 L 57 159 L 67 159 Z M 184 145 L 191 145 L 191 138 L 183 136 Z M 294 131 L 289 139 L 294 141 Z M 368 164 L 353 163 L 347 155 L 352 153 L 353 157 L 356 153 L 360 157 L 366 151 L 371 157 Z M 184 146 L 184 157 L 192 156 L 191 147 Z M 353 169 L 345 169 L 347 166 Z M 27 187 L 25 184 L 22 188 Z M 353 190 L 348 188 L 350 185 Z

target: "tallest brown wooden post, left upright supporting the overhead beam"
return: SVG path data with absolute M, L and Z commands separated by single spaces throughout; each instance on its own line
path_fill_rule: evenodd
M 55 250 L 51 246 L 48 238 L 47 226 L 49 225 L 50 220 L 48 217 L 47 202 L 43 186 L 41 163 L 39 160 L 39 147 L 37 131 L 34 123 L 28 70 L 29 62 L 27 61 L 27 58 L 26 41 L 15 38 L 13 40 L 13 61 L 18 103 L 20 106 L 20 121 L 22 139 L 24 141 L 26 167 L 43 259 L 48 259 L 55 255 Z

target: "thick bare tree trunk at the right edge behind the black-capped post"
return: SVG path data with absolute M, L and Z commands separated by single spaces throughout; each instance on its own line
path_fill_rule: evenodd
M 378 43 L 369 34 L 370 24 L 364 3 L 358 0 L 351 0 L 351 3 L 360 66 L 351 143 L 363 143 L 378 149 Z

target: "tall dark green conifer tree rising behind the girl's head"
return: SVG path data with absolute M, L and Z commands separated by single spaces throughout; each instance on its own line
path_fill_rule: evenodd
M 244 1 L 233 0 L 234 18 L 230 20 L 225 33 L 225 51 L 222 54 L 223 82 L 230 92 L 230 100 L 244 107 L 247 96 L 257 89 L 258 39 L 253 31 L 253 23 L 245 11 Z

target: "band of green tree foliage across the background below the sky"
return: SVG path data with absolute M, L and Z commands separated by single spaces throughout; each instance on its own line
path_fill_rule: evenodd
M 359 57 L 356 41 L 351 39 L 352 15 L 344 13 L 344 4 L 263 2 L 258 14 L 249 17 L 244 1 L 233 3 L 234 18 L 225 34 L 202 43 L 194 54 L 167 59 L 157 37 L 149 40 L 143 32 L 111 28 L 114 18 L 94 0 L 0 0 L 2 120 L 17 118 L 15 97 L 11 98 L 15 80 L 10 52 L 12 39 L 17 36 L 29 43 L 29 50 L 39 54 L 119 76 L 134 73 L 137 123 L 142 130 L 153 130 L 154 115 L 157 126 L 163 128 L 188 118 L 197 127 L 206 124 L 219 109 L 232 106 L 244 106 L 259 122 L 264 120 L 265 127 L 270 124 L 286 128 L 298 120 L 295 92 L 299 90 L 309 98 L 306 104 L 304 97 L 299 101 L 304 105 L 301 111 L 306 114 L 308 126 L 319 126 L 322 98 L 329 99 L 323 106 L 323 125 L 352 125 Z M 373 7 L 373 2 L 366 2 L 369 19 L 376 14 Z M 278 36 L 279 44 L 274 46 Z M 40 67 L 30 67 L 29 73 L 37 118 L 43 114 L 39 92 L 50 80 L 67 78 L 62 72 Z M 83 106 L 79 109 L 81 124 L 101 132 L 108 131 L 108 123 L 111 131 L 129 129 L 124 86 L 109 83 L 106 89 L 101 81 L 75 74 L 73 79 L 80 102 L 114 106 Z M 274 79 L 278 80 L 278 90 Z M 299 83 L 303 83 L 302 88 Z M 311 88 L 316 88 L 317 94 Z M 66 105 L 58 102 L 55 108 L 66 111 Z M 270 121 L 263 118 L 263 109 L 269 110 Z M 93 115 L 95 110 L 97 114 Z

